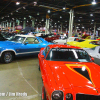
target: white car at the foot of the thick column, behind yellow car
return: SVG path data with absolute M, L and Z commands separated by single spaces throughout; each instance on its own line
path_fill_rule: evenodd
M 56 44 L 66 44 L 67 42 L 71 42 L 71 41 L 77 41 L 77 39 L 79 40 L 79 37 L 64 37 L 63 39 L 57 39 L 54 40 L 53 42 Z

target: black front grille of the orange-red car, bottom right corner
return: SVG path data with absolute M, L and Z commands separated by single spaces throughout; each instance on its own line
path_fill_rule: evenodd
M 76 94 L 76 100 L 100 100 L 99 95 Z

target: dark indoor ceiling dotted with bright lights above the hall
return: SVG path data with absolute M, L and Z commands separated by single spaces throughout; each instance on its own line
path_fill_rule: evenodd
M 16 5 L 19 1 L 20 5 Z M 27 22 L 35 19 L 36 24 L 45 25 L 46 14 L 50 11 L 50 23 L 64 27 L 69 24 L 70 9 L 74 11 L 74 24 L 77 27 L 92 29 L 94 23 L 100 25 L 100 0 L 0 0 L 0 22 L 26 18 Z M 66 10 L 63 10 L 66 7 Z

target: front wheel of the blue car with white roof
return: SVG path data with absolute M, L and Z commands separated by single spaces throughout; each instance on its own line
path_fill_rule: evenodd
M 3 63 L 10 63 L 14 58 L 14 55 L 12 52 L 4 52 L 1 55 L 1 62 Z

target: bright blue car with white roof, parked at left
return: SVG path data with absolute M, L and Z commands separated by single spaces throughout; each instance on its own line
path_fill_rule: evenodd
M 10 63 L 16 56 L 38 54 L 40 49 L 49 44 L 43 38 L 32 35 L 16 35 L 7 41 L 0 41 L 0 58 L 3 63 Z

